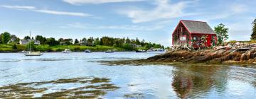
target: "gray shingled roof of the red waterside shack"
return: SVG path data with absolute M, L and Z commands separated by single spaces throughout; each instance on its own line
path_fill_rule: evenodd
M 201 21 L 185 21 L 181 20 L 190 33 L 203 33 L 203 34 L 215 34 L 212 28 L 206 23 Z

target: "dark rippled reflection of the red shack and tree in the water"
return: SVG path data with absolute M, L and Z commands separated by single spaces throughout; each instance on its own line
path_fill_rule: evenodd
M 202 98 L 211 88 L 219 93 L 225 91 L 228 72 L 220 66 L 176 67 L 171 86 L 179 98 Z

